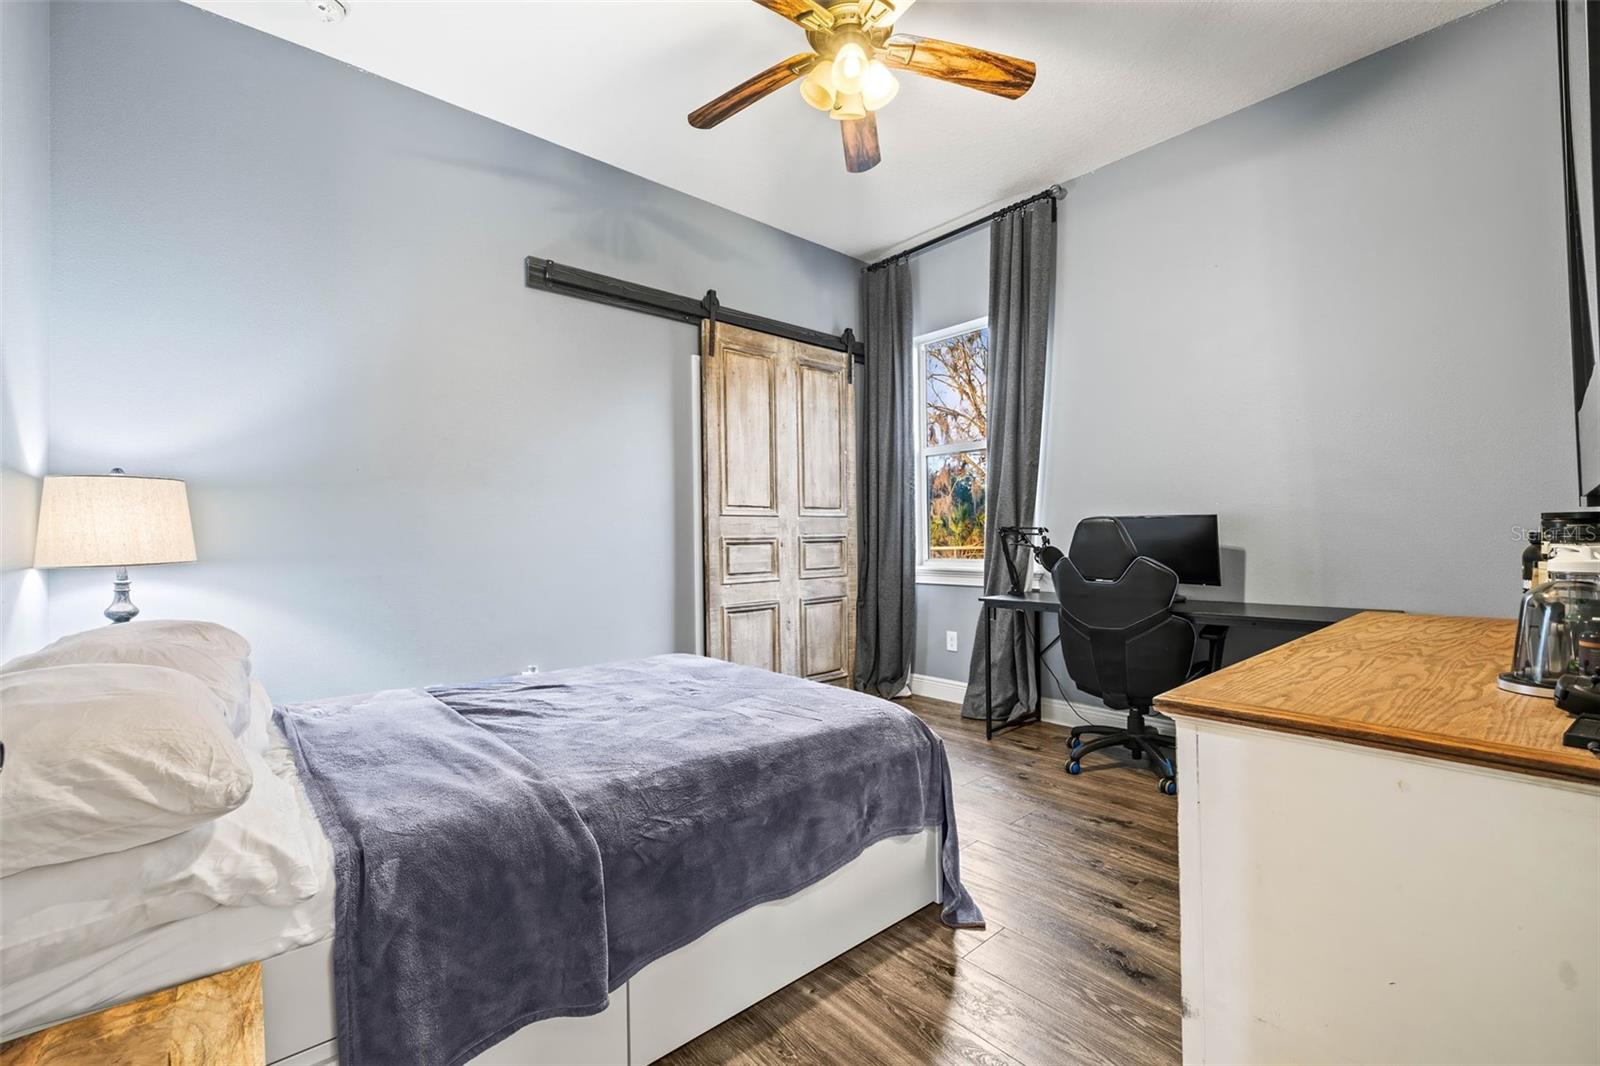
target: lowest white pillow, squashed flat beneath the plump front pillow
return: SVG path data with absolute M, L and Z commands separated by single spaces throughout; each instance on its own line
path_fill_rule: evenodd
M 16 981 L 214 908 L 290 906 L 322 887 L 294 786 L 250 752 L 221 818 L 154 844 L 0 877 L 0 972 Z

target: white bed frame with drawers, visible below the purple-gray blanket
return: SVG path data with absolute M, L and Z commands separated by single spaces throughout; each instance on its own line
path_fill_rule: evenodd
M 518 1029 L 474 1066 L 643 1066 L 939 901 L 939 831 L 890 837 L 784 900 L 763 903 L 656 959 L 587 1018 Z M 267 1063 L 339 1061 L 333 941 L 261 964 Z

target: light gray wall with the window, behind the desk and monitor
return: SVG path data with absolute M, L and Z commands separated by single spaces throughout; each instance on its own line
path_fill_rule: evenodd
M 1558 138 L 1507 3 L 1074 182 L 1045 525 L 1214 511 L 1214 595 L 1510 615 L 1514 528 L 1576 503 Z

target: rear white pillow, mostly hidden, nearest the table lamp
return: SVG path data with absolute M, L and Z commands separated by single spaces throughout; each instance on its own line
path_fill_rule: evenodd
M 250 642 L 226 626 L 170 619 L 101 626 L 19 655 L 0 674 L 80 663 L 139 663 L 192 674 L 222 701 L 234 736 L 250 723 Z

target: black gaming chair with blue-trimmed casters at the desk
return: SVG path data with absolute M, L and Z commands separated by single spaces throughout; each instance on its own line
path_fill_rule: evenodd
M 1173 738 L 1146 725 L 1150 701 L 1203 672 L 1195 667 L 1195 627 L 1173 615 L 1178 575 L 1139 555 L 1117 519 L 1085 519 L 1050 576 L 1061 600 L 1061 653 L 1074 683 L 1107 707 L 1128 712 L 1126 728 L 1078 725 L 1069 741 L 1067 773 L 1080 773 L 1083 755 L 1126 747 L 1149 759 L 1157 787 L 1178 792 Z M 1085 736 L 1096 739 L 1085 741 Z

